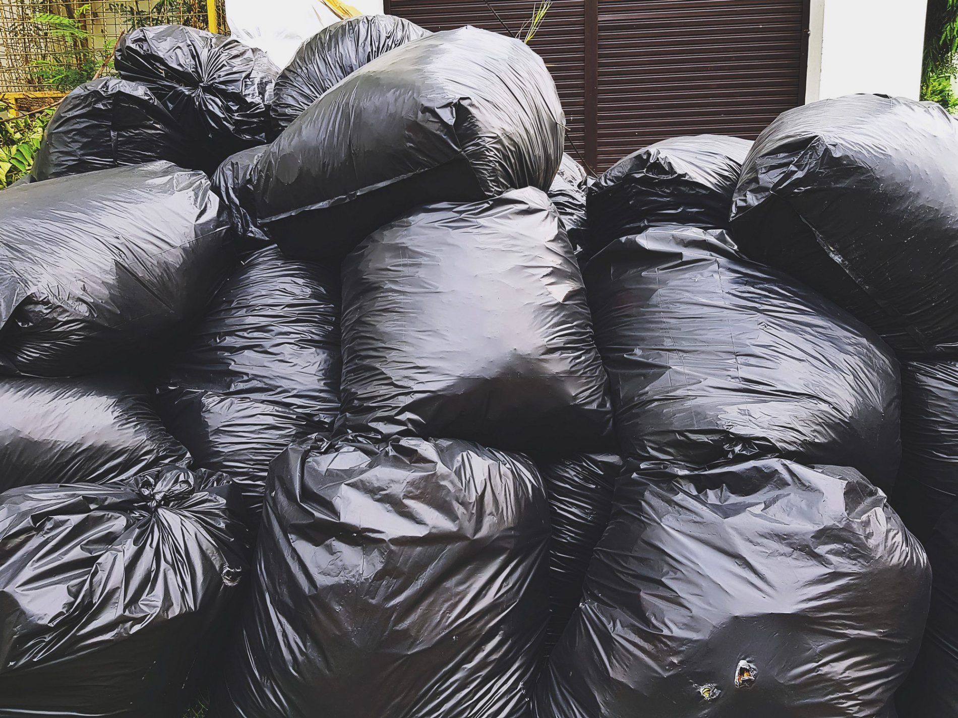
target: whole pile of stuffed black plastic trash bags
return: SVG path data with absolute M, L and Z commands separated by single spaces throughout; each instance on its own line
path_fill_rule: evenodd
M 958 715 L 955 121 L 596 177 L 502 34 L 115 65 L 0 193 L 0 715 Z

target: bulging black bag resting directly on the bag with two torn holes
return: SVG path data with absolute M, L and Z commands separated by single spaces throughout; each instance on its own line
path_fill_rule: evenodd
M 890 491 L 898 362 L 852 316 L 741 259 L 720 230 L 624 237 L 585 280 L 628 459 L 833 463 Z

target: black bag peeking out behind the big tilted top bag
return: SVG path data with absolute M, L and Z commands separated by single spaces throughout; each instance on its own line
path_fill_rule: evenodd
M 396 15 L 360 15 L 314 34 L 276 79 L 271 113 L 277 133 L 327 90 L 390 50 L 431 34 Z

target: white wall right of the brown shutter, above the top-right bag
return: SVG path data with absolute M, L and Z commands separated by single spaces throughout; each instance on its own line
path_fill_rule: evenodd
M 856 92 L 917 100 L 925 0 L 811 0 L 806 101 Z

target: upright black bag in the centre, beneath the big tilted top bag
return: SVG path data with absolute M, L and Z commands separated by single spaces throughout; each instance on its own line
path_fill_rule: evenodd
M 548 197 L 423 207 L 342 266 L 337 433 L 602 451 L 608 380 L 582 274 Z

